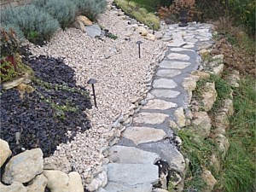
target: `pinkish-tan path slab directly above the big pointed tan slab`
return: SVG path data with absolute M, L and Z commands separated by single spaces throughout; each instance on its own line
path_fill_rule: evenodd
M 133 122 L 137 124 L 161 124 L 169 115 L 163 113 L 138 113 L 133 118 Z

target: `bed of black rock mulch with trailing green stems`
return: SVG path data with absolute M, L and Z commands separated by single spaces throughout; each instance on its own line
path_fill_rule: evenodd
M 90 128 L 90 120 L 83 112 L 91 108 L 90 96 L 75 84 L 73 69 L 62 59 L 26 57 L 23 62 L 35 72 L 31 84 L 35 90 L 21 99 L 18 90 L 0 87 L 0 137 L 9 143 L 13 154 L 39 147 L 47 157 L 58 144 Z M 21 134 L 20 144 L 16 144 L 17 132 Z

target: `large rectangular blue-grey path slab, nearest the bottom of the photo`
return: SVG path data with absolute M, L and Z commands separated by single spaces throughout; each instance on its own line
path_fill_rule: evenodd
M 158 166 L 152 164 L 108 164 L 108 182 L 137 185 L 156 184 L 159 181 Z

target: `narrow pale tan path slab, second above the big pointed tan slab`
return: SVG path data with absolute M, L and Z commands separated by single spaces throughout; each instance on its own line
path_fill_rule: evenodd
M 169 108 L 176 108 L 177 104 L 173 102 L 166 102 L 160 99 L 149 100 L 148 103 L 143 106 L 143 109 L 159 109 L 166 110 Z

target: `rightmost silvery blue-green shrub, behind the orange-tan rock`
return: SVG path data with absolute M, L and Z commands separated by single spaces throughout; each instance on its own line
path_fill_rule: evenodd
M 106 0 L 74 0 L 79 14 L 87 16 L 90 20 L 96 20 L 96 16 L 102 14 L 107 6 Z

